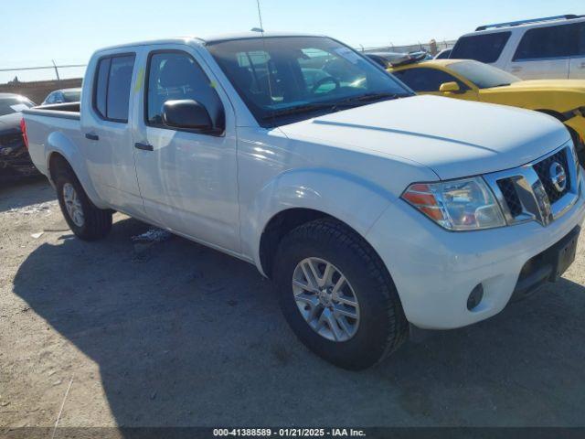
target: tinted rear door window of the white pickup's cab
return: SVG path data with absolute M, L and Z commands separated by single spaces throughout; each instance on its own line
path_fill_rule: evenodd
M 134 55 L 119 55 L 98 62 L 93 107 L 102 119 L 128 122 L 134 59 Z

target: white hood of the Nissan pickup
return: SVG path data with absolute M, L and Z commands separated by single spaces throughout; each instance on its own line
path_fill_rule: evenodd
M 293 140 L 416 162 L 441 179 L 522 166 L 570 138 L 546 114 L 436 96 L 378 102 L 280 128 Z

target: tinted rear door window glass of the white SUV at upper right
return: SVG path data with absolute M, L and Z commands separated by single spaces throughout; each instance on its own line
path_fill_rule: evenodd
M 513 60 L 573 57 L 579 53 L 580 27 L 579 23 L 529 29 Z

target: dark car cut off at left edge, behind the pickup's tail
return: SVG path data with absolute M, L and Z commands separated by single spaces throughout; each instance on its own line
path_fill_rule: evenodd
M 0 180 L 38 175 L 30 161 L 20 121 L 21 112 L 35 106 L 24 96 L 0 93 Z

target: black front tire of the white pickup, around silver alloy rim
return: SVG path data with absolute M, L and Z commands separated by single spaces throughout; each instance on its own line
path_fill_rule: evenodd
M 328 324 L 315 324 L 316 318 L 313 316 L 318 313 L 312 313 L 313 305 L 304 305 L 304 299 L 298 301 L 299 295 L 295 296 L 295 292 L 298 294 L 299 291 L 302 291 L 301 295 L 309 297 L 312 303 L 315 302 L 313 296 L 321 297 L 314 293 L 305 294 L 303 288 L 299 287 L 299 282 L 310 284 L 310 276 L 304 274 L 304 270 L 300 277 L 297 274 L 301 273 L 299 267 L 303 269 L 301 262 L 305 268 L 306 263 L 315 265 L 316 262 L 317 273 L 323 274 L 323 279 L 327 277 L 324 275 L 326 262 L 330 262 L 333 265 L 330 270 L 336 270 L 346 278 L 344 288 L 348 295 L 344 293 L 343 296 L 351 298 L 353 294 L 358 303 L 356 309 L 343 305 L 346 309 L 356 311 L 358 316 L 358 320 L 346 318 L 346 324 L 353 322 L 353 325 L 345 325 L 353 328 L 353 336 L 348 336 L 352 331 L 342 330 L 343 337 L 338 337 L 337 341 L 331 339 L 332 335 L 335 337 L 335 331 L 329 330 Z M 319 263 L 321 268 L 318 267 Z M 289 232 L 279 244 L 273 275 L 282 313 L 293 332 L 307 348 L 335 366 L 350 370 L 367 369 L 387 358 L 409 335 L 408 322 L 396 286 L 378 254 L 355 231 L 334 219 L 316 219 Z M 295 286 L 293 276 L 297 280 Z M 335 283 L 335 277 L 333 279 Z M 334 297 L 335 302 L 335 294 L 327 297 Z M 331 313 L 335 306 L 340 305 L 332 302 L 325 304 L 332 306 Z M 324 312 L 319 320 L 323 318 Z M 302 313 L 308 315 L 306 318 L 311 320 L 314 327 Z M 343 326 L 339 325 L 338 328 Z M 318 333 L 315 327 L 320 327 L 318 330 L 321 332 Z

